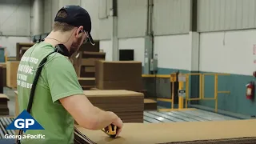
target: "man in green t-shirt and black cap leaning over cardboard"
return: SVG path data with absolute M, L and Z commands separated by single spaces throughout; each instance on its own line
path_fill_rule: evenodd
M 58 11 L 53 30 L 42 42 L 26 50 L 18 66 L 20 112 L 28 106 L 31 86 L 42 59 L 58 44 L 66 46 L 70 55 L 87 40 L 94 45 L 90 30 L 90 15 L 82 7 L 64 6 Z M 50 54 L 43 65 L 30 114 L 45 130 L 27 130 L 25 134 L 45 137 L 22 139 L 22 143 L 74 143 L 74 120 L 89 130 L 101 130 L 110 124 L 119 127 L 118 134 L 122 130 L 122 120 L 116 114 L 90 103 L 83 94 L 72 63 L 58 52 Z

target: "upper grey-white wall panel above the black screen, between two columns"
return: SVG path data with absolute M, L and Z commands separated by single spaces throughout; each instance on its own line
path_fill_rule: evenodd
M 118 38 L 146 34 L 147 0 L 118 1 Z

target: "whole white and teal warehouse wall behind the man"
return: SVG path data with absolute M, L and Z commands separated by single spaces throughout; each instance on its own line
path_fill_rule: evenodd
M 141 61 L 145 67 L 149 61 L 145 53 L 150 49 L 147 39 L 152 37 L 158 74 L 177 70 L 185 74 L 230 73 L 218 79 L 219 90 L 230 90 L 230 94 L 219 94 L 218 108 L 256 115 L 256 103 L 247 100 L 245 95 L 246 84 L 254 80 L 251 75 L 256 58 L 252 54 L 256 44 L 255 0 L 156 0 L 154 5 L 150 5 L 151 0 L 118 1 L 117 21 L 112 15 L 112 0 L 41 0 L 43 14 L 37 18 L 34 17 L 41 10 L 36 9 L 35 2 L 40 0 L 0 2 L 0 45 L 6 45 L 11 55 L 15 56 L 17 41 L 29 42 L 30 35 L 49 33 L 55 14 L 62 6 L 79 5 L 90 13 L 91 34 L 94 40 L 100 41 L 106 60 L 114 60 L 116 50 L 132 49 L 134 60 Z M 196 18 L 193 2 L 197 2 Z M 192 30 L 194 21 L 196 29 Z M 114 38 L 118 40 L 114 42 Z M 214 78 L 207 77 L 205 84 L 205 96 L 213 97 Z M 159 78 L 157 89 L 158 97 L 170 98 L 168 80 Z M 191 93 L 198 89 L 198 78 L 190 78 L 190 96 L 198 97 L 198 92 Z M 214 108 L 211 101 L 199 101 L 199 104 Z

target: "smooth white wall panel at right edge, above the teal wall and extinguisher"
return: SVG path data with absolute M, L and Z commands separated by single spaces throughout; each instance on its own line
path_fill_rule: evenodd
M 200 34 L 199 70 L 252 75 L 256 30 L 235 30 Z

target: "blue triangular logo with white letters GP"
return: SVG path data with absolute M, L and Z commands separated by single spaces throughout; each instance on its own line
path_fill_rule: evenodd
M 6 127 L 6 130 L 44 130 L 44 128 L 26 111 L 23 110 L 9 126 Z

